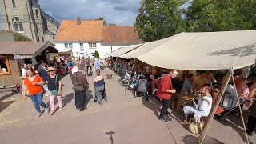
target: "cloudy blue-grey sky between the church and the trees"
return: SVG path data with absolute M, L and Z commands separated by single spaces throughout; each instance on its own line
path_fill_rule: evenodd
M 106 23 L 133 26 L 141 0 L 38 0 L 41 8 L 58 22 L 62 20 L 96 19 Z

